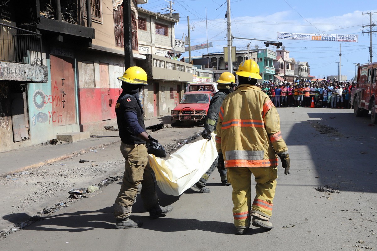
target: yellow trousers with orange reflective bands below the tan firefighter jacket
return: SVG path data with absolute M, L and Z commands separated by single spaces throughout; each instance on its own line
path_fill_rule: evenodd
M 228 178 L 232 185 L 233 218 L 236 227 L 249 227 L 250 214 L 258 213 L 270 218 L 275 196 L 276 167 L 228 167 Z M 251 174 L 255 176 L 256 196 L 251 202 Z

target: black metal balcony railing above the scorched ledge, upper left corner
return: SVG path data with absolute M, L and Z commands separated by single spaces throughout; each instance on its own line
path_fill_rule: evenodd
M 0 60 L 43 65 L 41 34 L 0 24 Z

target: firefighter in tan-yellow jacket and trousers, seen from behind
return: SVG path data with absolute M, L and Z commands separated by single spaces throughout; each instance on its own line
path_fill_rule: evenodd
M 244 234 L 252 224 L 273 228 L 272 215 L 277 165 L 280 157 L 285 175 L 289 174 L 288 148 L 280 133 L 280 118 L 270 98 L 255 84 L 258 64 L 243 61 L 238 71 L 239 85 L 222 103 L 216 126 L 216 148 L 219 163 L 228 170 L 233 187 L 233 217 L 238 234 Z M 255 176 L 256 196 L 251 202 L 251 174 Z

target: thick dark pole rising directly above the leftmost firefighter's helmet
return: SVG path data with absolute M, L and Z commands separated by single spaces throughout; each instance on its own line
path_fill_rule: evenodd
M 136 29 L 136 27 L 135 27 Z M 132 20 L 131 1 L 124 1 L 123 4 L 123 43 L 124 43 L 124 68 L 133 66 L 132 56 Z

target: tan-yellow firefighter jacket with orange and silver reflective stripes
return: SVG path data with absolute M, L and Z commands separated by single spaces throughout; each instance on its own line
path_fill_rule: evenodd
M 225 167 L 277 166 L 276 154 L 288 153 L 275 106 L 253 85 L 239 85 L 228 94 L 216 131 L 216 148 L 224 155 Z

